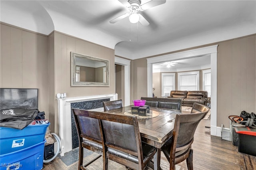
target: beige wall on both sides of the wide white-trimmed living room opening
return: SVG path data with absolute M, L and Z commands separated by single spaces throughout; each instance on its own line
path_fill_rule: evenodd
M 245 110 L 256 112 L 256 35 L 218 44 L 217 54 L 217 126 L 229 128 L 229 115 Z M 198 48 L 198 47 L 194 47 Z M 192 49 L 192 48 L 191 48 Z M 183 50 L 185 51 L 185 50 Z M 177 51 L 175 51 L 177 52 Z M 170 52 L 174 53 L 174 52 Z M 147 95 L 146 58 L 134 60 L 134 98 Z M 140 75 L 139 75 L 140 74 Z

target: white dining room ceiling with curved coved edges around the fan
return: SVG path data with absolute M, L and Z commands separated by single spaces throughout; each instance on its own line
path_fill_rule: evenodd
M 1 22 L 46 35 L 56 30 L 128 59 L 256 33 L 255 0 L 166 0 L 140 12 L 148 26 L 131 24 L 128 17 L 109 22 L 126 12 L 118 0 L 0 0 Z

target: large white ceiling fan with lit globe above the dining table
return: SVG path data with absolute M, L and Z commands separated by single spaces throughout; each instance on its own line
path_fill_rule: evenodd
M 138 11 L 144 11 L 154 6 L 164 4 L 166 2 L 166 0 L 150 0 L 149 2 L 141 4 L 141 0 L 118 0 L 118 1 L 121 2 L 124 6 L 126 6 L 129 12 L 121 16 L 118 16 L 117 18 L 114 18 L 113 20 L 110 21 L 110 23 L 112 24 L 116 23 L 119 20 L 122 20 L 129 16 L 129 20 L 131 23 L 137 23 L 138 21 L 140 21 L 140 23 L 143 26 L 148 26 L 149 22 L 141 14 L 138 14 Z

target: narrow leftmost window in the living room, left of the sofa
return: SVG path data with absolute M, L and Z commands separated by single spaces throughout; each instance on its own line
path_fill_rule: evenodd
M 162 73 L 162 96 L 170 96 L 175 90 L 175 73 Z

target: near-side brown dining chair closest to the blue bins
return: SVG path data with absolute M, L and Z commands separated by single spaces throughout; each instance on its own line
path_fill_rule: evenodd
M 90 117 L 87 111 L 82 109 L 72 109 L 76 123 L 76 130 L 79 141 L 78 170 L 85 170 L 86 166 L 97 160 L 103 155 L 103 139 L 100 120 Z M 98 153 L 93 160 L 87 164 L 83 163 L 84 148 Z M 103 159 L 104 161 L 104 159 Z

